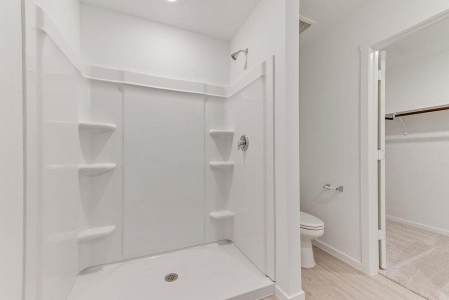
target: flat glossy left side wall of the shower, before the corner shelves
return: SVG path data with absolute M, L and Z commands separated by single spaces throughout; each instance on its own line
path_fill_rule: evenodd
M 60 300 L 78 274 L 79 71 L 43 32 L 28 52 L 27 78 L 35 97 L 27 99 L 29 185 L 27 276 L 36 282 L 30 299 Z M 36 54 L 35 57 L 32 55 Z M 36 177 L 33 177 L 36 175 Z M 35 276 L 35 277 L 34 277 Z

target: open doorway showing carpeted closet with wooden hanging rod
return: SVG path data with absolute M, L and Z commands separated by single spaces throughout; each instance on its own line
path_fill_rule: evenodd
M 447 15 L 364 52 L 368 149 L 374 149 L 367 155 L 371 263 L 379 274 L 432 299 L 449 297 Z

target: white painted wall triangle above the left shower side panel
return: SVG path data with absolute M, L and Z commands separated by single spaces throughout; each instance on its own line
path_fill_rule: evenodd
M 62 33 L 72 49 L 79 52 L 79 0 L 34 0 Z

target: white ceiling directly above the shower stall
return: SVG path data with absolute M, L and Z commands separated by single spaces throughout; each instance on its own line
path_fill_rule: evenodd
M 219 39 L 230 40 L 260 0 L 81 0 Z

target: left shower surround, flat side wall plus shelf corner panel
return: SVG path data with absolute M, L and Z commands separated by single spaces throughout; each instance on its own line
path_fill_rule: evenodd
M 42 11 L 27 5 L 25 298 L 61 300 L 81 269 L 122 258 L 122 92 L 83 78 L 61 40 L 40 29 Z M 116 128 L 90 134 L 80 121 Z M 81 171 L 105 162 L 116 169 Z M 102 226 L 114 230 L 80 238 Z

